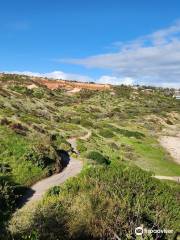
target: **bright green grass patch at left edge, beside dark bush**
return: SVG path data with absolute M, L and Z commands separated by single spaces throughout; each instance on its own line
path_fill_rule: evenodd
M 12 178 L 17 183 L 30 185 L 45 174 L 41 168 L 24 159 L 32 144 L 28 138 L 0 126 L 0 162 L 10 165 Z

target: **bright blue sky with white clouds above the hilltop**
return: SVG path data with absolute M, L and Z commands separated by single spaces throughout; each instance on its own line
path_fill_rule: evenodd
M 180 87 L 179 0 L 1 0 L 0 72 Z

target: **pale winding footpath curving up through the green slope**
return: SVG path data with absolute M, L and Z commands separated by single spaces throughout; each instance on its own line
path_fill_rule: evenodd
M 78 154 L 77 151 L 77 139 L 83 139 L 87 140 L 91 136 L 91 131 L 87 130 L 87 134 L 79 137 L 79 138 L 69 138 L 67 141 L 71 144 L 74 152 Z M 60 185 L 64 183 L 68 178 L 76 176 L 78 173 L 81 172 L 83 168 L 82 161 L 75 159 L 73 157 L 70 157 L 69 164 L 67 167 L 64 168 L 64 170 L 58 174 L 52 175 L 48 178 L 42 179 L 39 182 L 35 183 L 26 193 L 26 195 L 23 197 L 21 206 L 25 206 L 26 204 L 32 203 L 34 201 L 40 200 L 45 192 L 50 189 L 53 186 Z

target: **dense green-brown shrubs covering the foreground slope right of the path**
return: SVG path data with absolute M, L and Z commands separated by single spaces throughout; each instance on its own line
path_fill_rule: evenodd
M 37 239 L 133 239 L 140 225 L 175 233 L 179 227 L 177 201 L 174 189 L 137 167 L 90 167 L 59 191 L 49 191 L 32 209 L 17 212 L 10 230 L 15 239 L 24 235 Z

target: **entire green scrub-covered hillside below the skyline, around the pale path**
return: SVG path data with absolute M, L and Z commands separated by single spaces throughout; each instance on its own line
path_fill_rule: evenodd
M 159 142 L 179 123 L 173 89 L 2 74 L 2 239 L 133 239 L 139 225 L 173 229 L 175 236 L 179 185 L 152 176 L 180 176 Z M 82 172 L 16 211 L 26 188 L 63 171 L 64 154 L 81 160 Z

